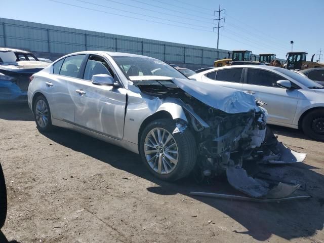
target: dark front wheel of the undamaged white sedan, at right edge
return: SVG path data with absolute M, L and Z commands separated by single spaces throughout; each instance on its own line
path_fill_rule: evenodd
M 302 120 L 302 129 L 310 138 L 324 141 L 324 109 L 308 112 Z

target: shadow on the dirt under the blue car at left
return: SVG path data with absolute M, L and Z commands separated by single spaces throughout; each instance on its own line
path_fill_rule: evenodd
M 31 121 L 34 117 L 27 103 L 0 104 L 0 119 Z

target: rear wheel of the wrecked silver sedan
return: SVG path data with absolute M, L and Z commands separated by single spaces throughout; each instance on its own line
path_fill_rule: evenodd
M 32 112 L 38 131 L 49 132 L 53 129 L 50 106 L 43 95 L 39 95 L 33 102 Z

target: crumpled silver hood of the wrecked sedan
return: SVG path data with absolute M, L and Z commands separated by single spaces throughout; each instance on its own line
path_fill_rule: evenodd
M 197 82 L 191 79 L 172 78 L 164 76 L 132 76 L 135 80 L 172 80 L 180 89 L 196 98 L 197 100 L 222 110 L 226 113 L 249 112 L 253 109 L 259 110 L 254 96 L 242 91 L 225 88 L 222 86 Z

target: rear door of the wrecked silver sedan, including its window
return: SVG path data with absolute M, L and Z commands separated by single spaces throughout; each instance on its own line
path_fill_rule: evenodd
M 73 55 L 53 65 L 51 80 L 45 82 L 52 117 L 74 122 L 74 84 L 78 82 L 85 54 Z M 73 92 L 74 91 L 74 92 Z

